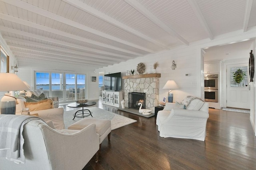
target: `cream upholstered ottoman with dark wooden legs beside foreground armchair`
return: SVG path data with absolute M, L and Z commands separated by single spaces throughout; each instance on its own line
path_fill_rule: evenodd
M 108 136 L 108 141 L 110 141 L 110 133 L 111 133 L 111 121 L 106 119 L 94 119 L 94 118 L 85 118 L 73 123 L 68 127 L 68 129 L 72 130 L 81 130 L 84 127 L 95 124 L 96 125 L 96 133 L 100 136 L 100 149 L 102 141 Z M 96 154 L 96 162 L 99 160 L 100 149 Z

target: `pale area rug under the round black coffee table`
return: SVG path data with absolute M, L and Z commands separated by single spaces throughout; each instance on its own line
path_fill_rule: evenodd
M 89 109 L 92 113 L 92 116 L 84 117 L 84 118 L 79 118 L 76 117 L 74 120 L 73 114 L 76 113 L 76 110 L 70 110 L 70 111 L 64 111 L 64 125 L 65 129 L 68 129 L 70 125 L 75 123 L 76 121 L 79 121 L 81 119 L 86 119 L 86 118 L 96 118 L 96 119 L 108 119 L 111 120 L 111 130 L 117 129 L 119 127 L 128 125 L 130 123 L 136 122 L 134 119 L 130 119 L 128 117 L 124 117 L 122 115 L 118 115 L 116 113 L 112 113 L 110 111 L 106 111 L 103 109 L 100 109 L 98 107 L 87 107 L 86 109 Z

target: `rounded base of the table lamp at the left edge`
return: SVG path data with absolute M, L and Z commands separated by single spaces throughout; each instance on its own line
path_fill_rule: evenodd
M 9 96 L 6 96 L 9 95 Z M 10 97 L 11 94 L 6 93 L 0 102 L 0 112 L 1 114 L 12 114 L 15 115 L 16 112 L 16 100 Z

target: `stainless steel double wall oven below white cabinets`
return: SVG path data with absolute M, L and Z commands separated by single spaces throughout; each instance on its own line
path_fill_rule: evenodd
M 218 102 L 218 74 L 204 75 L 204 101 Z

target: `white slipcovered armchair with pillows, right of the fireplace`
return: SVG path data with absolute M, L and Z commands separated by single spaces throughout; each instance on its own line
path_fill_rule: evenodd
M 193 99 L 192 96 L 187 96 L 187 98 Z M 158 111 L 156 125 L 158 125 L 160 137 L 204 141 L 209 104 L 198 98 L 189 102 L 185 101 L 183 104 L 177 103 L 166 103 L 164 109 Z

